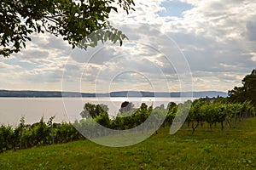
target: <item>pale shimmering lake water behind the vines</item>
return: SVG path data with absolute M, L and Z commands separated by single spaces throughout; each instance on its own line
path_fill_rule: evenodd
M 84 103 L 108 105 L 109 115 L 118 113 L 124 101 L 132 102 L 138 107 L 143 102 L 158 106 L 169 102 L 183 103 L 189 98 L 0 98 L 0 124 L 17 125 L 20 117 L 25 116 L 26 123 L 38 122 L 42 116 L 47 122 L 50 116 L 55 116 L 54 122 L 73 122 L 79 118 Z

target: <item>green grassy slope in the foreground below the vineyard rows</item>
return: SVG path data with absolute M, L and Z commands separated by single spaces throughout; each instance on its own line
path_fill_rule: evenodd
M 169 128 L 140 144 L 109 148 L 89 140 L 0 154 L 0 169 L 256 169 L 256 118 L 236 128 Z

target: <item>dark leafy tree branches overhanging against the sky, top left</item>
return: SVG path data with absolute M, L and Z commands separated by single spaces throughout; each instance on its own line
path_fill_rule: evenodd
M 26 48 L 26 40 L 31 41 L 34 32 L 62 36 L 73 48 L 94 47 L 99 40 L 119 41 L 121 45 L 125 35 L 108 23 L 110 12 L 118 12 L 113 3 L 127 14 L 134 10 L 133 0 L 3 0 L 0 54 L 8 57 Z

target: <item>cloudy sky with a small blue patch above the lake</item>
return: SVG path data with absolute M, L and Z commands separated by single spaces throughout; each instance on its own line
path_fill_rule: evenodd
M 87 51 L 33 34 L 0 59 L 0 89 L 102 93 L 121 90 L 223 91 L 256 68 L 256 2 L 135 0 L 110 23 L 129 40 Z

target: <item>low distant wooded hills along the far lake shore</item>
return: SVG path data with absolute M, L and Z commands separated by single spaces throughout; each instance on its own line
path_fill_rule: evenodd
M 61 98 L 61 97 L 191 97 L 191 92 L 137 92 L 121 91 L 106 94 L 89 94 L 78 92 L 58 92 L 58 91 L 18 91 L 0 90 L 0 97 L 20 97 L 20 98 Z M 218 91 L 194 92 L 193 97 L 226 97 L 228 94 Z

